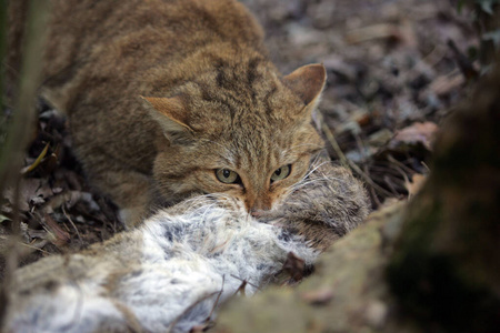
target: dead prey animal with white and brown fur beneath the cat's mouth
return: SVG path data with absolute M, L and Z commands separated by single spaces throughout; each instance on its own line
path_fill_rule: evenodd
M 194 196 L 102 244 L 18 270 L 7 289 L 2 332 L 191 332 L 204 325 L 238 291 L 250 295 L 276 281 L 290 252 L 311 265 L 367 216 L 366 192 L 348 170 L 311 168 L 267 223 L 232 196 Z

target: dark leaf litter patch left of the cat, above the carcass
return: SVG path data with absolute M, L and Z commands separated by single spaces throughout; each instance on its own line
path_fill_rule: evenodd
M 64 117 L 42 102 L 38 109 L 36 139 L 20 170 L 19 231 L 29 245 L 22 264 L 51 253 L 79 251 L 123 230 L 114 204 L 88 184 L 74 159 Z M 14 202 L 14 190 L 7 189 L 0 198 L 0 235 L 16 230 Z M 4 248 L 0 246 L 2 256 Z

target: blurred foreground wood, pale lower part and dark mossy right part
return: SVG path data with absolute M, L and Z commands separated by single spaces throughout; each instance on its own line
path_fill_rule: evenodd
M 294 289 L 233 300 L 216 332 L 496 332 L 500 67 L 442 127 L 432 173 L 372 214 Z

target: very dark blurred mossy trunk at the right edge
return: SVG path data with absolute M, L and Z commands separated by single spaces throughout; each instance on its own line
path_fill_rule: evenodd
M 500 70 L 442 131 L 389 266 L 409 315 L 437 332 L 500 327 Z

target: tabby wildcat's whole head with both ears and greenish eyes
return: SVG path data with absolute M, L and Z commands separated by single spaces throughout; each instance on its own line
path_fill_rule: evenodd
M 144 98 L 162 132 L 153 175 L 163 200 L 226 193 L 249 212 L 269 210 L 304 176 L 323 147 L 311 112 L 326 70 L 276 73 L 266 63 L 223 64 L 171 98 Z

